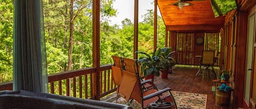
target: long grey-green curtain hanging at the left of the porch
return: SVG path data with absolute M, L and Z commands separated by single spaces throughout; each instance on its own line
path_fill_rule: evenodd
M 42 0 L 14 0 L 14 91 L 48 92 Z

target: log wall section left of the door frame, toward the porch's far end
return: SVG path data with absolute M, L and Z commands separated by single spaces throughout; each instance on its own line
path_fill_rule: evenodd
M 235 88 L 234 68 L 235 68 L 235 31 L 236 31 L 236 10 L 229 12 L 225 17 L 225 24 L 222 34 L 222 51 L 221 51 L 221 69 L 226 69 L 230 73 L 230 87 Z M 230 104 L 234 102 L 234 93 L 231 93 Z

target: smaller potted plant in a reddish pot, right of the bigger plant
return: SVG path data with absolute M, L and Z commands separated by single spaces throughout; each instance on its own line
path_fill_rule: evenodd
M 160 70 L 162 72 L 161 76 L 163 79 L 168 78 L 169 69 L 176 64 L 176 61 L 172 58 L 172 55 L 174 55 L 175 52 L 171 52 L 171 50 L 172 49 L 169 47 L 160 49 Z

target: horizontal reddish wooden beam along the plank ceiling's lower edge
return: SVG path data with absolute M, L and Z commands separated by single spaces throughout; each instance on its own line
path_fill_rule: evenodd
M 166 30 L 220 30 L 222 25 L 166 25 Z

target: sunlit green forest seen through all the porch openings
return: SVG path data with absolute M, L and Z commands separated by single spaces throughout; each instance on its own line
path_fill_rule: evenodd
M 114 2 L 100 1 L 100 65 L 110 64 L 111 55 L 133 57 L 133 22 L 109 23 L 118 12 Z M 43 8 L 47 73 L 92 67 L 92 0 L 43 0 Z M 0 82 L 13 80 L 13 13 L 13 1 L 0 0 Z M 138 49 L 148 53 L 153 51 L 153 13 L 149 9 L 139 16 Z M 164 47 L 165 25 L 157 19 L 157 46 Z

